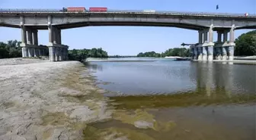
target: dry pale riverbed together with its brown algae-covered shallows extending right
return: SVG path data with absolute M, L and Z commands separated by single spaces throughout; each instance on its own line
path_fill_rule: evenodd
M 78 61 L 0 59 L 0 140 L 154 140 L 143 131 L 176 126 L 118 108 L 91 73 Z

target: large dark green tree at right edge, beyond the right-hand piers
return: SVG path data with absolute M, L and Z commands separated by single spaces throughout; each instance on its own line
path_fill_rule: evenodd
M 243 33 L 235 39 L 235 56 L 256 55 L 256 30 Z

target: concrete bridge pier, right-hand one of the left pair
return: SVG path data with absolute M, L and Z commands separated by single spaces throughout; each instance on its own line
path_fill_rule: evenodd
M 48 16 L 49 48 L 50 61 L 66 61 L 69 46 L 62 45 L 61 30 L 52 25 L 52 17 Z

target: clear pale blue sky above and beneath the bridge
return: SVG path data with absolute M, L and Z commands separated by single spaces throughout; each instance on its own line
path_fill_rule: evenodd
M 216 5 L 219 9 L 216 10 Z M 256 0 L 0 0 L 0 8 L 106 7 L 111 10 L 201 11 L 256 14 Z M 250 30 L 235 30 L 235 38 Z M 109 55 L 163 52 L 197 43 L 198 33 L 175 27 L 86 26 L 62 30 L 62 44 L 73 48 L 103 48 Z M 0 26 L 0 42 L 21 40 L 21 30 Z M 38 42 L 48 44 L 48 31 L 38 32 Z M 216 33 L 214 33 L 216 40 Z

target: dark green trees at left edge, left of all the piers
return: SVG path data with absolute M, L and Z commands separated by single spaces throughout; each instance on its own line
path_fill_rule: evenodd
M 0 58 L 20 58 L 22 57 L 21 42 L 9 40 L 7 43 L 0 42 Z

